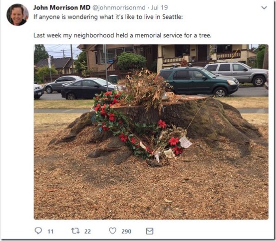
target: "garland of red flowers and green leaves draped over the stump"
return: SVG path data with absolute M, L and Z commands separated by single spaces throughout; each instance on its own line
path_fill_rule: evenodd
M 102 92 L 93 98 L 92 111 L 95 116 L 92 121 L 99 127 L 99 131 L 108 130 L 118 135 L 121 141 L 133 149 L 135 156 L 154 156 L 159 161 L 160 157 L 172 158 L 182 153 L 181 138 L 185 136 L 185 130 L 175 126 L 169 128 L 163 120 L 151 124 L 133 123 L 111 108 L 123 98 L 124 93 L 117 90 Z

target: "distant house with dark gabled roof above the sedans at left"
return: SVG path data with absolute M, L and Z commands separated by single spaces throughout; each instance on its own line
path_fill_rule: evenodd
M 73 71 L 73 61 L 71 57 L 65 57 L 65 58 L 51 58 L 51 65 L 54 65 L 55 69 L 57 70 L 58 74 L 72 74 Z M 48 60 L 42 59 L 39 60 L 36 64 L 36 67 L 42 67 L 42 66 L 48 66 Z

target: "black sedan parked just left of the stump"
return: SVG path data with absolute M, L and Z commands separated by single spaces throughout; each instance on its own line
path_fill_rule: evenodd
M 95 94 L 106 90 L 106 80 L 100 78 L 85 78 L 62 86 L 61 97 L 67 100 L 92 99 Z M 116 89 L 117 86 L 108 82 L 108 91 Z

